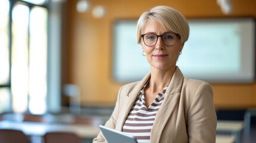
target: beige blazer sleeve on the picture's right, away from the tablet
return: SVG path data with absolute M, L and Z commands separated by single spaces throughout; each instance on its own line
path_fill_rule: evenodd
M 203 82 L 196 90 L 187 113 L 187 131 L 190 143 L 215 143 L 217 116 L 211 85 Z

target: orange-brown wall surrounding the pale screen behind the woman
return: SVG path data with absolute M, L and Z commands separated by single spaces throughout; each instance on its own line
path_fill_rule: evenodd
M 90 1 L 90 0 L 88 0 Z M 66 66 L 64 83 L 81 88 L 82 104 L 110 104 L 116 101 L 119 88 L 111 75 L 113 49 L 113 22 L 117 19 L 135 19 L 156 5 L 168 5 L 187 18 L 256 17 L 256 1 L 233 0 L 233 14 L 224 15 L 216 0 L 91 0 L 92 8 L 103 5 L 107 15 L 96 19 L 90 9 L 76 12 L 76 1 L 66 4 Z M 100 41 L 98 39 L 101 39 Z M 228 54 L 228 53 L 227 53 Z M 256 107 L 256 84 L 212 84 L 217 108 Z

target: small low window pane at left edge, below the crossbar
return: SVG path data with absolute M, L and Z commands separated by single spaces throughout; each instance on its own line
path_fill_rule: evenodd
M 11 109 L 10 88 L 0 88 L 0 114 Z

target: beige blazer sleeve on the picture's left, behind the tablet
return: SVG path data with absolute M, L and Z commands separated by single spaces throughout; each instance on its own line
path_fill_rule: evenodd
M 118 99 L 116 100 L 116 105 L 115 105 L 115 108 L 113 110 L 113 113 L 112 113 L 110 119 L 107 120 L 107 122 L 104 125 L 108 128 L 112 128 L 112 129 L 116 128 L 116 121 L 118 120 L 119 105 L 120 105 L 119 102 L 120 102 L 120 95 L 121 95 L 122 88 L 123 88 L 123 86 L 119 89 Z M 93 143 L 100 143 L 100 142 L 107 142 L 107 141 L 106 141 L 106 138 L 104 137 L 103 133 L 100 131 L 100 133 L 98 133 L 97 137 L 94 138 L 92 142 Z

